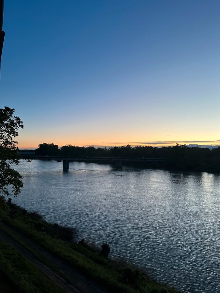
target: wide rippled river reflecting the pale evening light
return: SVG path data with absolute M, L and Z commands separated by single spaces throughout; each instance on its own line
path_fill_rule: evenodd
M 220 176 L 111 165 L 20 161 L 13 202 L 110 245 L 185 292 L 220 292 Z

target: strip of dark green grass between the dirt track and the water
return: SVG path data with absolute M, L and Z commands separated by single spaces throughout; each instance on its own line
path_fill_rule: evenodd
M 14 229 L 20 235 L 24 235 L 34 243 L 50 251 L 53 255 L 74 267 L 78 272 L 101 284 L 109 292 L 178 292 L 166 284 L 156 282 L 145 275 L 140 269 L 123 260 L 106 259 L 100 256 L 99 251 L 96 251 L 94 248 L 86 244 L 70 241 L 75 236 L 76 231 L 74 229 L 65 229 L 57 224 L 43 221 L 39 214 L 25 212 L 11 203 L 3 204 L 0 211 L 0 220 L 4 223 L 2 229 L 10 237 L 14 238 L 17 243 L 25 246 L 30 252 L 35 253 L 31 247 L 28 248 L 28 244 L 24 243 L 22 237 L 11 233 L 10 230 L 7 230 L 7 227 Z M 5 244 L 2 245 L 5 247 Z M 36 253 L 35 256 L 39 259 L 41 258 Z M 43 261 L 44 259 L 41 258 L 41 260 Z M 53 269 L 53 263 L 46 259 L 44 261 Z M 11 260 L 8 259 L 8 262 L 11 263 Z M 44 292 L 42 290 L 39 291 Z

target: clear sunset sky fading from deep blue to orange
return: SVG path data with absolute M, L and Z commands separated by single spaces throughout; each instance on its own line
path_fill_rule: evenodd
M 19 147 L 220 145 L 219 0 L 7 0 Z

